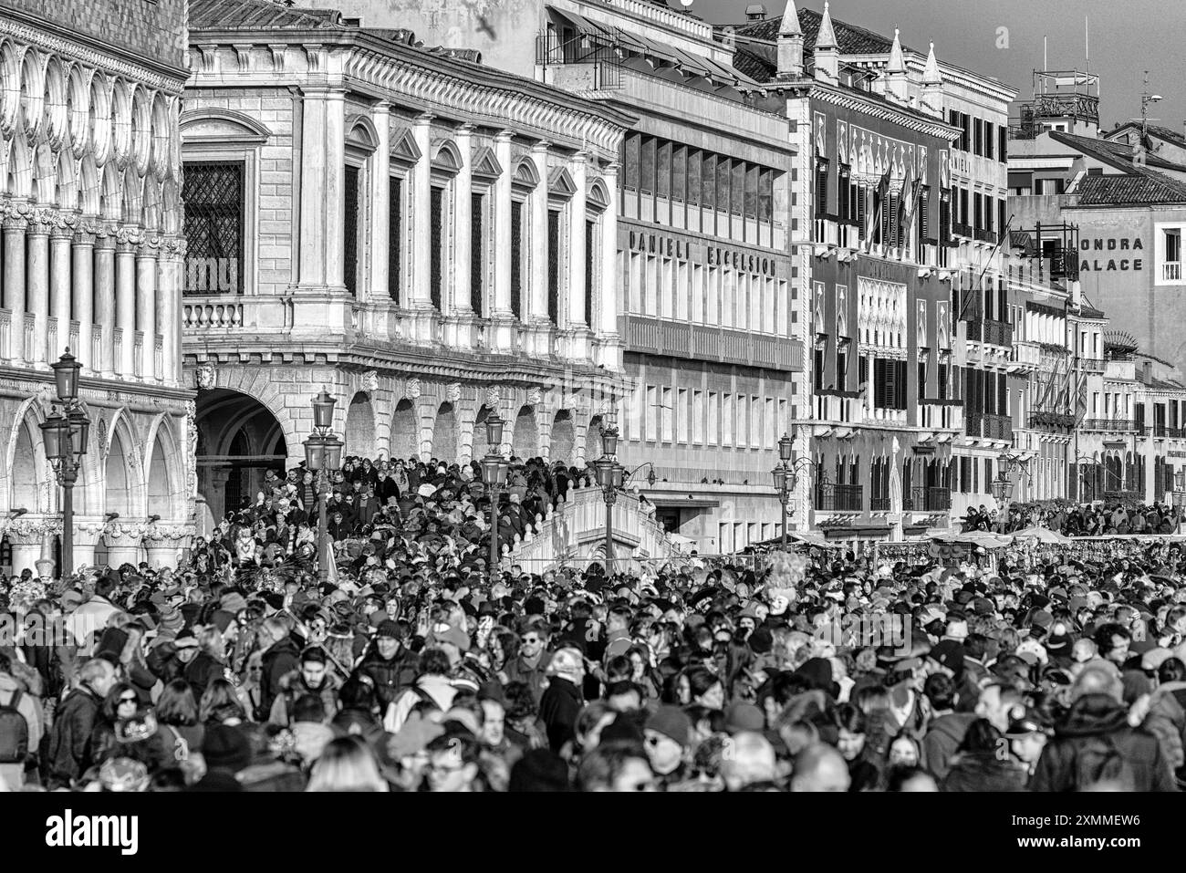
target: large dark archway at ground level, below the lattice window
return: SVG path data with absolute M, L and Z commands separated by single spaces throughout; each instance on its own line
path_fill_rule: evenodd
M 263 490 L 268 470 L 283 474 L 288 445 L 272 412 L 227 388 L 198 391 L 198 493 L 215 522 Z

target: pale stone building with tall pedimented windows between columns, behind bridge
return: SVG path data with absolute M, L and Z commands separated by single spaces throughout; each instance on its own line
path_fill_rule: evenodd
M 631 117 L 264 0 L 190 5 L 183 337 L 209 523 L 292 466 L 323 385 L 346 454 L 582 463 L 623 396 Z

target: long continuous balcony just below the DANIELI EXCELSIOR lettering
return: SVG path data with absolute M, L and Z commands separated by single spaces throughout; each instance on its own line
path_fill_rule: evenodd
M 788 337 L 646 316 L 619 316 L 618 332 L 630 351 L 772 370 L 803 369 L 803 343 Z

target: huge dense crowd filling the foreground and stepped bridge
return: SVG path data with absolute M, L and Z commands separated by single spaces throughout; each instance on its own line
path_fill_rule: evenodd
M 0 786 L 1175 791 L 1186 555 L 485 565 L 473 469 L 269 477 L 178 567 L 0 586 Z M 586 471 L 518 465 L 509 534 Z M 394 482 L 393 484 L 389 484 Z M 617 571 L 617 572 L 613 572 Z M 52 633 L 46 633 L 51 629 Z

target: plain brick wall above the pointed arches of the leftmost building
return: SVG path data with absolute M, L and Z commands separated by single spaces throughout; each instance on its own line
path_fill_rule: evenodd
M 186 0 L 0 0 L 0 14 L 24 13 L 177 69 L 189 42 L 185 9 Z

